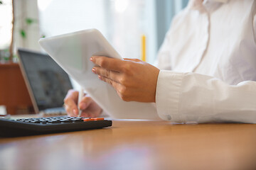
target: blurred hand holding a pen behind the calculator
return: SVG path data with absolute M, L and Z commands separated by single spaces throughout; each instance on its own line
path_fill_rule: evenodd
M 78 91 L 70 89 L 68 94 L 65 96 L 65 110 L 70 116 L 78 116 L 78 104 L 82 110 L 82 117 L 96 118 L 102 113 L 102 108 L 97 105 L 95 101 L 90 98 L 87 94 L 82 98 L 80 103 L 78 103 Z

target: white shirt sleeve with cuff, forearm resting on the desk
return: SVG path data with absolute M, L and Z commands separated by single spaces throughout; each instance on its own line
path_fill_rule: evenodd
M 203 74 L 163 70 L 156 110 L 160 118 L 179 123 L 256 123 L 256 82 L 228 85 Z

